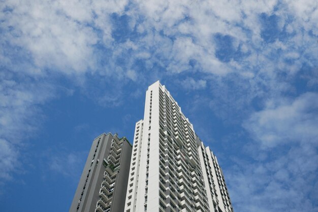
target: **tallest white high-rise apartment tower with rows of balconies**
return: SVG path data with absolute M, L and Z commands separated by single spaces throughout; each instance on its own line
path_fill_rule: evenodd
M 160 82 L 136 123 L 125 212 L 232 212 L 224 176 L 178 103 Z

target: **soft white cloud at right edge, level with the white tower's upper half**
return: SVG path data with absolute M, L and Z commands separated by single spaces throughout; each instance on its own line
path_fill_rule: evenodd
M 253 113 L 244 127 L 263 147 L 290 142 L 316 142 L 318 94 L 305 93 Z

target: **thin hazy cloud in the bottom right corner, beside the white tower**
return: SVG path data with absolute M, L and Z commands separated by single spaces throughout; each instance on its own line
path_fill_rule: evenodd
M 273 151 L 279 154 L 262 161 L 233 158 L 235 165 L 225 170 L 225 175 L 230 183 L 234 209 L 246 212 L 318 211 L 317 197 L 312 195 L 318 168 L 318 155 L 314 149 L 311 145 L 293 146 L 288 151 L 278 148 L 265 154 L 270 155 Z

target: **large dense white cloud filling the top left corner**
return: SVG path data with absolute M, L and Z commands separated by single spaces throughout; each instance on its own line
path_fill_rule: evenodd
M 121 13 L 126 3 L 7 1 L 1 8 L 10 9 L 3 17 L 2 28 L 6 30 L 2 40 L 29 54 L 30 62 L 40 69 L 56 69 L 63 74 L 85 73 L 98 68 L 94 56 L 94 45 L 99 41 L 96 28 L 102 27 L 102 42 L 109 45 L 112 41 L 109 16 L 113 12 Z

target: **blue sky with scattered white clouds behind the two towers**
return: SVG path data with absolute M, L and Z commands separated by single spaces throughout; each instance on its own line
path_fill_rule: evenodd
M 318 3 L 0 1 L 0 210 L 68 211 L 160 80 L 235 211 L 318 211 Z

